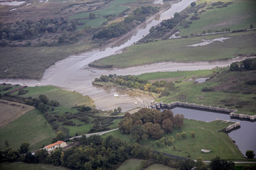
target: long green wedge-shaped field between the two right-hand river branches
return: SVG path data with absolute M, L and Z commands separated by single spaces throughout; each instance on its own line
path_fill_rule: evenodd
M 134 65 L 151 64 L 155 62 L 188 62 L 223 60 L 236 57 L 239 54 L 252 55 L 256 53 L 255 31 L 244 33 L 228 33 L 208 35 L 175 40 L 160 40 L 146 44 L 132 45 L 122 54 L 112 55 L 93 64 L 112 65 L 113 67 L 131 67 Z M 210 45 L 187 47 L 187 45 L 221 37 L 230 37 L 224 42 L 213 42 Z

